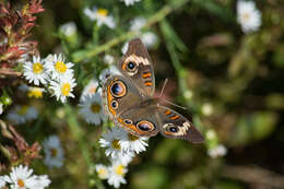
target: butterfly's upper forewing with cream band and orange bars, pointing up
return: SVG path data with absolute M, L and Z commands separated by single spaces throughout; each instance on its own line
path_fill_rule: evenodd
M 126 55 L 118 62 L 120 72 L 129 78 L 144 96 L 155 91 L 154 69 L 146 47 L 139 38 L 129 42 Z

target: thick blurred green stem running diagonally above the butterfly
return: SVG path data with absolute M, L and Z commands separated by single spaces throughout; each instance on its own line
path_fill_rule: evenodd
M 176 2 L 174 4 L 166 4 L 157 13 L 155 13 L 147 20 L 146 24 L 144 25 L 144 27 L 141 28 L 141 31 L 145 31 L 145 29 L 150 28 L 151 26 L 153 26 L 154 24 L 158 23 L 165 16 L 167 16 L 169 13 L 171 13 L 176 9 L 185 5 L 188 1 L 189 0 L 179 0 L 178 2 Z M 128 39 L 131 39 L 131 38 L 138 36 L 141 33 L 141 31 L 130 31 L 128 33 L 125 33 L 125 34 L 107 42 L 106 44 L 104 44 L 102 46 L 94 47 L 94 48 L 91 48 L 87 50 L 79 50 L 73 54 L 72 59 L 74 62 L 80 62 L 83 59 L 90 59 L 103 51 L 107 51 L 109 48 L 111 48 L 125 40 L 128 40 Z

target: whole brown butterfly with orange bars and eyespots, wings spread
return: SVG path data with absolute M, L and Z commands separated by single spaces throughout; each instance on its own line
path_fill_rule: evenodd
M 103 84 L 103 107 L 115 125 L 137 137 L 204 141 L 193 123 L 154 98 L 155 76 L 149 52 L 139 38 L 129 42 L 118 62 L 121 75 L 109 75 Z

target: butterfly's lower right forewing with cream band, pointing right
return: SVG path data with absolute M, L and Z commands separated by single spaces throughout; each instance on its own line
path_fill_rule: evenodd
M 166 138 L 185 139 L 192 143 L 204 141 L 191 121 L 165 106 L 157 106 L 161 133 Z

